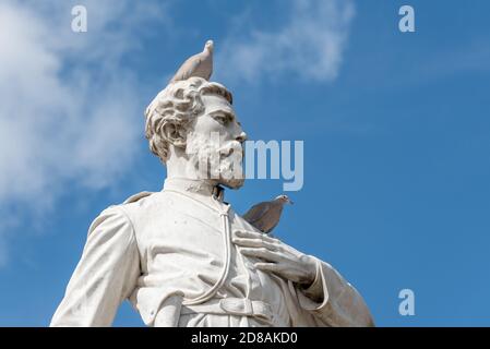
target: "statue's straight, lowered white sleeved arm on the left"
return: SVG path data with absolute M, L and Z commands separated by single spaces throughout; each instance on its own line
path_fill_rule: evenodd
M 123 208 L 111 206 L 88 229 L 82 257 L 50 326 L 110 326 L 139 275 L 132 224 Z

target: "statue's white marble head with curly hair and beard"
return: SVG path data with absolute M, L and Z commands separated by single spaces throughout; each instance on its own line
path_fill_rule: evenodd
M 225 86 L 202 77 L 170 83 L 146 108 L 150 149 L 167 174 L 240 188 L 247 139 Z

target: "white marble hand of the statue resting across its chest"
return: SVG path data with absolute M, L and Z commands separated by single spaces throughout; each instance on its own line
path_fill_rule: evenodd
M 256 257 L 254 266 L 274 273 L 292 282 L 311 285 L 316 275 L 316 262 L 278 239 L 255 231 L 235 231 L 232 242 L 243 255 Z

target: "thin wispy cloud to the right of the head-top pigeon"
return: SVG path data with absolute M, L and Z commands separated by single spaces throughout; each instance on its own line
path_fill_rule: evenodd
M 234 34 L 217 53 L 225 80 L 260 81 L 264 76 L 297 75 L 320 82 L 334 80 L 340 68 L 355 8 L 350 0 L 280 1 L 289 9 L 276 29 L 252 28 Z

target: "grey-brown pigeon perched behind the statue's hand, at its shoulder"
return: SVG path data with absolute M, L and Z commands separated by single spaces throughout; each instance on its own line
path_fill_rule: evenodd
M 292 204 L 287 195 L 279 195 L 273 201 L 265 201 L 253 205 L 243 219 L 263 233 L 270 233 L 279 222 L 285 204 Z

